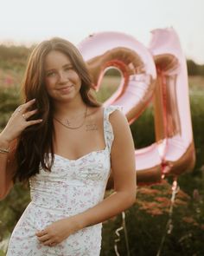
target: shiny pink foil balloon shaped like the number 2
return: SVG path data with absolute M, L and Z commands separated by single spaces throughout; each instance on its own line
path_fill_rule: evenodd
M 104 105 L 122 106 L 129 122 L 135 121 L 155 90 L 156 66 L 150 51 L 134 37 L 118 32 L 93 34 L 80 43 L 79 49 L 92 73 L 96 90 L 106 69 L 119 69 L 121 84 Z M 161 181 L 161 158 L 156 144 L 136 150 L 136 167 L 138 182 Z

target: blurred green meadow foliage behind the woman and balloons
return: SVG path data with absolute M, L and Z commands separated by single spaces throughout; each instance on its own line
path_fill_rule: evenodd
M 20 84 L 32 48 L 0 45 L 0 130 L 6 125 L 14 109 L 22 103 Z M 180 189 L 175 195 L 171 216 L 172 177 L 160 184 L 137 188 L 137 201 L 125 212 L 132 256 L 156 255 L 159 248 L 161 256 L 204 255 L 204 65 L 188 60 L 188 75 L 196 150 L 194 171 L 179 176 Z M 118 71 L 110 69 L 104 77 L 101 89 L 96 93 L 98 100 L 104 102 L 118 88 L 119 82 Z M 151 104 L 131 125 L 131 131 L 137 148 L 155 141 Z M 109 193 L 111 192 L 107 191 L 106 195 Z M 10 233 L 29 200 L 29 188 L 16 184 L 6 199 L 0 201 L 0 256 L 5 255 Z M 167 226 L 168 221 L 171 226 Z M 114 244 L 118 240 L 116 230 L 121 225 L 122 215 L 105 221 L 101 256 L 115 255 Z M 128 255 L 124 230 L 119 233 L 118 253 Z

